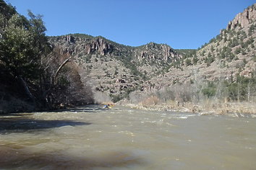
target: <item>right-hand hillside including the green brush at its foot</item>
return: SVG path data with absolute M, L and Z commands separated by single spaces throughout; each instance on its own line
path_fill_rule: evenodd
M 197 51 L 181 50 L 183 58 L 167 73 L 150 80 L 156 89 L 175 84 L 193 87 L 195 93 L 219 97 L 225 93 L 231 100 L 255 99 L 256 5 L 249 6 L 229 22 L 226 29 Z M 190 85 L 189 85 L 190 84 Z M 223 86 L 218 89 L 218 86 Z M 174 86 L 173 86 L 174 87 Z M 186 87 L 187 88 L 187 87 Z M 226 88 L 226 89 L 225 89 Z M 197 95 L 196 94 L 196 95 Z M 194 94 L 193 94 L 194 95 Z M 217 96 L 216 96 L 217 95 Z

